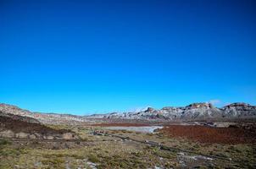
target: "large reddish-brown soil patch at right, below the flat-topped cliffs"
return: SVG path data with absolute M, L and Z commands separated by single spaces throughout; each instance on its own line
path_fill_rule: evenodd
M 170 137 L 196 140 L 201 143 L 246 144 L 256 143 L 256 132 L 243 128 L 211 128 L 206 126 L 165 126 L 159 130 Z

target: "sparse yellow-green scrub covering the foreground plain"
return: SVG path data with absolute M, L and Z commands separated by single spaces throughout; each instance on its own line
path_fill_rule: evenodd
M 51 128 L 65 129 L 67 126 L 51 126 Z M 97 129 L 101 130 L 102 128 Z M 42 143 L 40 140 L 21 144 L 1 139 L 0 168 L 14 168 L 14 166 L 64 168 L 67 165 L 70 168 L 77 168 L 88 166 L 87 162 L 95 163 L 97 168 L 181 167 L 181 163 L 177 158 L 179 151 L 161 150 L 157 146 L 138 144 L 107 135 L 95 136 L 90 134 L 90 127 L 73 127 L 71 130 L 83 138 L 79 141 L 79 144 L 77 141 L 54 144 Z M 170 138 L 163 133 L 143 134 L 113 130 L 109 131 L 109 134 L 122 135 L 127 139 L 151 140 L 182 150 L 192 150 L 205 155 L 231 158 L 231 161 L 210 161 L 209 163 L 212 163 L 214 168 L 253 168 L 256 163 L 254 156 L 255 144 L 202 144 L 188 139 Z M 55 148 L 53 149 L 53 147 Z M 195 167 L 209 168 L 204 163 L 195 165 Z

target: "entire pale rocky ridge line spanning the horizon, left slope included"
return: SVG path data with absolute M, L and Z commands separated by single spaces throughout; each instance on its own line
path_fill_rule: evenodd
M 189 106 L 166 106 L 160 110 L 148 107 L 141 112 L 112 112 L 108 114 L 95 114 L 91 116 L 75 116 L 69 114 L 54 114 L 30 112 L 17 106 L 0 104 L 0 111 L 21 117 L 31 117 L 40 123 L 86 123 L 96 119 L 136 119 L 136 120 L 206 120 L 230 118 L 255 118 L 256 106 L 246 103 L 232 103 L 221 108 L 210 103 L 193 103 Z

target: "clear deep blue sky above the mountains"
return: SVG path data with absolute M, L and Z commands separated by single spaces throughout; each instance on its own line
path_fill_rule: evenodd
M 256 104 L 255 1 L 0 0 L 0 102 L 86 114 Z

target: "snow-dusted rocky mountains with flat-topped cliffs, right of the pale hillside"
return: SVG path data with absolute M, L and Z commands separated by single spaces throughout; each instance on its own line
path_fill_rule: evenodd
M 188 106 L 166 106 L 160 110 L 148 107 L 142 112 L 109 113 L 92 115 L 93 118 L 125 118 L 125 119 L 164 119 L 164 120 L 193 120 L 208 118 L 256 117 L 256 106 L 246 103 L 233 103 L 222 108 L 210 103 L 193 103 Z

